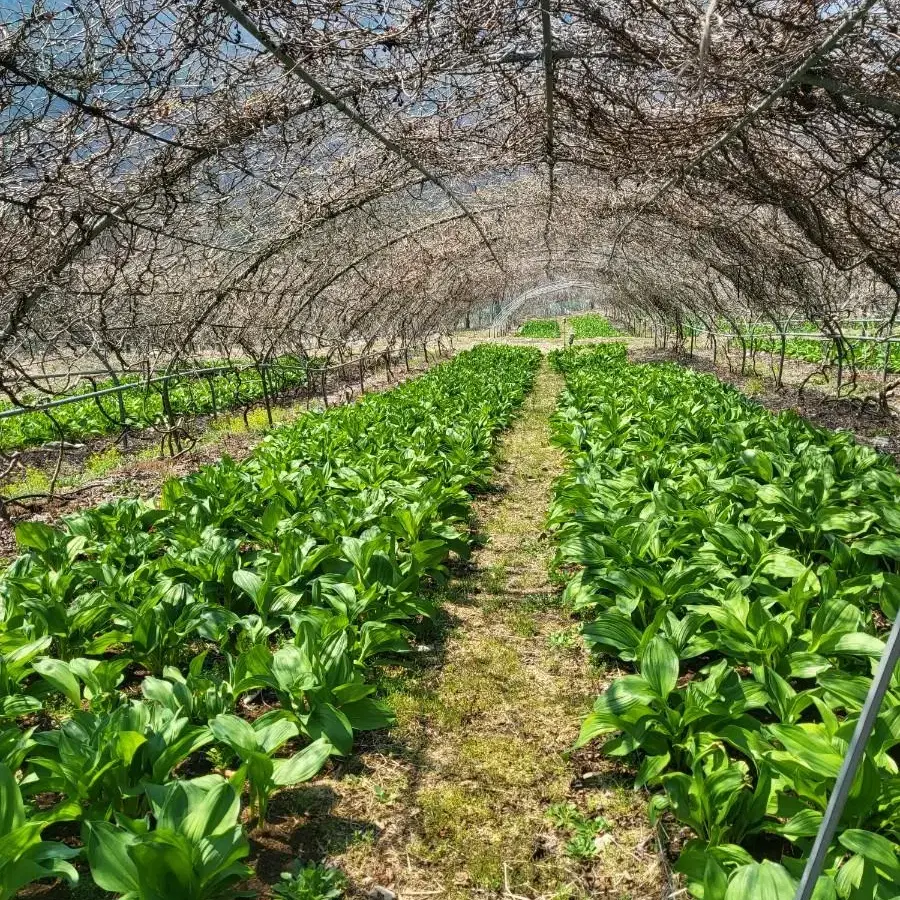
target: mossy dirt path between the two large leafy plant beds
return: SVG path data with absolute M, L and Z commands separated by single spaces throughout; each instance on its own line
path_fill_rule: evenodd
M 416 664 L 383 675 L 396 727 L 336 777 L 282 795 L 279 821 L 257 835 L 264 879 L 266 857 L 274 874 L 300 852 L 340 865 L 358 897 L 661 896 L 633 776 L 565 755 L 608 676 L 548 578 L 560 387 L 545 364 L 503 439 L 495 490 L 476 503 L 483 546 L 447 586 Z

